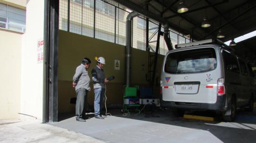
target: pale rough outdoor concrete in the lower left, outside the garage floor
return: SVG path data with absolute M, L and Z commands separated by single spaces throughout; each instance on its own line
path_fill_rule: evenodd
M 0 143 L 104 143 L 40 120 L 0 120 Z

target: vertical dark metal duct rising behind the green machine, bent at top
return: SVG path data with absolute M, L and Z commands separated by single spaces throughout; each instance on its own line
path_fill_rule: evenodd
M 125 46 L 125 84 L 130 86 L 131 82 L 131 48 L 132 48 L 132 21 L 133 18 L 139 16 L 137 12 L 131 12 L 126 18 L 126 46 Z

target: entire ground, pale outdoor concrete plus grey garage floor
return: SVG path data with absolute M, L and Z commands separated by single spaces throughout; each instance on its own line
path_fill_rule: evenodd
M 238 111 L 235 122 L 222 122 L 209 112 L 194 113 L 216 118 L 215 122 L 195 121 L 173 116 L 169 110 L 154 114 L 113 116 L 77 122 L 70 117 L 58 123 L 39 120 L 0 121 L 0 143 L 256 143 L 256 109 L 254 113 Z M 66 115 L 67 116 L 67 115 Z

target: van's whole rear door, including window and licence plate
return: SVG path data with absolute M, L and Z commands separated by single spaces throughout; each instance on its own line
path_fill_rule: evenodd
M 170 52 L 162 74 L 164 101 L 216 103 L 217 80 L 221 76 L 213 47 Z

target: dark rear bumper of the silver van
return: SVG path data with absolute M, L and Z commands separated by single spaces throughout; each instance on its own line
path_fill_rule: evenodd
M 161 107 L 171 107 L 176 109 L 184 110 L 216 110 L 224 111 L 227 110 L 227 96 L 217 96 L 216 103 L 189 103 L 189 102 L 173 102 L 173 101 L 163 101 Z

